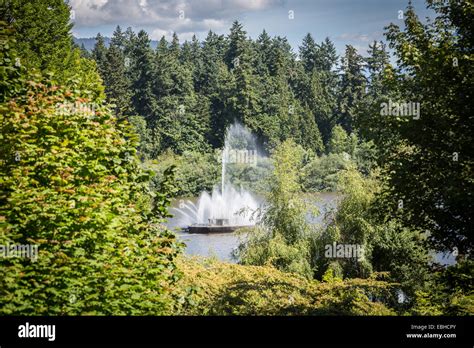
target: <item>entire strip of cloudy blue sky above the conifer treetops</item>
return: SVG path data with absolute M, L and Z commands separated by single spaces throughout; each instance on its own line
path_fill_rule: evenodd
M 431 14 L 423 0 L 412 0 L 420 18 Z M 317 42 L 329 37 L 339 53 L 351 44 L 365 54 L 368 44 L 382 40 L 384 27 L 402 25 L 400 12 L 408 0 L 69 0 L 73 34 L 78 38 L 111 36 L 115 27 L 144 29 L 153 40 L 176 32 L 181 42 L 195 34 L 229 33 L 234 20 L 256 39 L 265 29 L 285 36 L 297 52 L 311 33 Z

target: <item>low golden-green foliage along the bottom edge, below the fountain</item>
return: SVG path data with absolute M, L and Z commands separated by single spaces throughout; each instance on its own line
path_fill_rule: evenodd
M 269 266 L 179 259 L 180 315 L 393 315 L 393 285 L 375 278 L 319 283 Z M 377 299 L 377 300 L 371 300 Z

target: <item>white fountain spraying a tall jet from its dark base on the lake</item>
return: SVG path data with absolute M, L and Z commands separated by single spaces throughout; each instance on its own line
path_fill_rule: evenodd
M 226 132 L 222 151 L 221 185 L 212 193 L 202 192 L 196 203 L 182 201 L 176 211 L 181 216 L 181 224 L 190 233 L 224 233 L 237 228 L 254 225 L 252 213 L 258 202 L 243 188 L 236 189 L 226 178 L 228 165 L 240 163 L 257 164 L 255 137 L 240 124 L 234 123 Z

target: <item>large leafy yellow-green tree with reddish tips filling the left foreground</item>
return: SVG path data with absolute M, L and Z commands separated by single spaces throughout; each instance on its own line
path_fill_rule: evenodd
M 8 47 L 1 71 L 21 76 Z M 24 76 L 0 104 L 0 245 L 38 257 L 0 259 L 0 312 L 167 313 L 180 243 L 160 224 L 169 201 L 148 191 L 138 137 L 100 99 Z

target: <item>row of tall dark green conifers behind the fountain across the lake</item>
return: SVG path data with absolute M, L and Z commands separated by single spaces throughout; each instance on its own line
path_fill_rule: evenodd
M 118 26 L 109 47 L 99 34 L 92 52 L 83 54 L 97 62 L 117 115 L 146 123 L 150 157 L 166 149 L 222 147 L 234 121 L 268 150 L 291 137 L 322 154 L 335 125 L 354 131 L 356 105 L 376 93 L 388 62 L 380 42 L 370 46 L 368 58 L 350 45 L 339 57 L 329 38 L 318 44 L 308 33 L 296 54 L 285 37 L 265 30 L 249 39 L 237 21 L 227 36 L 209 31 L 202 42 L 194 36 L 181 43 L 174 33 L 156 49 L 145 31 Z

